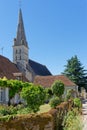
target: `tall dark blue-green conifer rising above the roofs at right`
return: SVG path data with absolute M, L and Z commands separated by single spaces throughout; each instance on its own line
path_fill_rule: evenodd
M 85 72 L 86 70 L 84 70 L 83 65 L 75 55 L 67 61 L 63 74 L 77 84 L 80 91 L 81 87 L 84 87 L 87 90 L 87 77 Z

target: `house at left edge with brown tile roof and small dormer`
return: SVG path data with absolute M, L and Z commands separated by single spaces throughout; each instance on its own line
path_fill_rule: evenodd
M 0 55 L 0 78 L 19 79 L 28 81 L 26 77 L 18 70 L 17 66 L 8 58 Z M 0 104 L 8 104 L 9 88 L 0 87 Z

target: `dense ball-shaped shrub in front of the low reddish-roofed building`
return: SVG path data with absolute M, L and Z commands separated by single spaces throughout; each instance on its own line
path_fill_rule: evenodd
M 55 81 L 52 85 L 52 92 L 54 95 L 61 97 L 64 93 L 64 84 L 60 80 Z

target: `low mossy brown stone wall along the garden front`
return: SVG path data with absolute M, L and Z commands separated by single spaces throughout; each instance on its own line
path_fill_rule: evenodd
M 72 101 L 64 102 L 48 113 L 11 117 L 0 121 L 0 130 L 62 130 L 62 120 L 72 108 Z

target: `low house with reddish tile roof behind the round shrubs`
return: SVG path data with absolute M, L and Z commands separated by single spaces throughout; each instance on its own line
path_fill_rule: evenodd
M 69 78 L 64 75 L 55 75 L 55 76 L 36 76 L 34 80 L 34 84 L 41 85 L 45 88 L 49 88 L 56 81 L 60 80 L 64 83 L 65 91 L 64 95 L 66 95 L 67 90 L 72 89 L 75 92 L 78 92 L 78 86 L 73 83 Z M 75 95 L 76 96 L 76 95 Z

